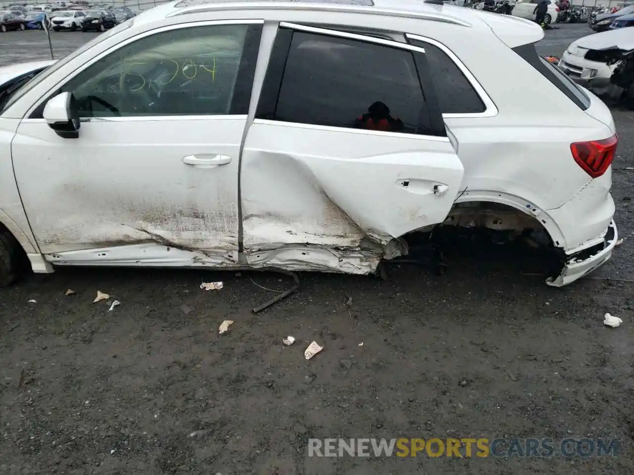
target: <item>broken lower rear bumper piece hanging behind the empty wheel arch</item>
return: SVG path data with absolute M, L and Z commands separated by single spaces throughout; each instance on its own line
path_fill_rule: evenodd
M 561 274 L 555 279 L 548 279 L 546 283 L 553 287 L 563 287 L 597 270 L 612 256 L 612 250 L 618 239 L 619 233 L 612 220 L 605 230 L 602 246 L 595 244 L 590 246 L 590 250 L 582 250 L 568 257 Z M 589 256 L 587 256 L 588 253 Z

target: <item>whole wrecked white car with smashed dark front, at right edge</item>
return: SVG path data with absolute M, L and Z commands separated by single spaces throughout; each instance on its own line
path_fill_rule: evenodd
M 567 47 L 559 67 L 578 84 L 634 107 L 634 29 L 588 35 Z

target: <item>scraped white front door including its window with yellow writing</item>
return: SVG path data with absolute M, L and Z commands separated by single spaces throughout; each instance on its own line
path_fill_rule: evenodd
M 44 102 L 23 120 L 15 176 L 49 260 L 236 262 L 238 162 L 261 28 L 185 23 L 94 58 L 56 87 L 77 100 L 77 139 L 48 127 Z

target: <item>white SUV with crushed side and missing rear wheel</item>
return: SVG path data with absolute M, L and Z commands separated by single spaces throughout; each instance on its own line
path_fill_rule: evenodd
M 538 56 L 542 37 L 420 0 L 145 11 L 0 111 L 2 280 L 22 252 L 34 272 L 370 274 L 411 232 L 475 225 L 547 232 L 548 283 L 573 282 L 618 238 L 618 137 L 604 103 Z

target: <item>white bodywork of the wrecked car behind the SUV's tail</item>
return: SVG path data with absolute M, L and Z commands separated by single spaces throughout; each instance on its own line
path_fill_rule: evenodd
M 559 68 L 578 84 L 597 94 L 609 94 L 616 63 L 607 64 L 619 51 L 634 49 L 632 28 L 618 28 L 573 41 L 562 55 Z

